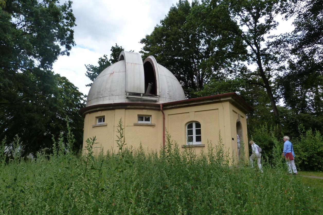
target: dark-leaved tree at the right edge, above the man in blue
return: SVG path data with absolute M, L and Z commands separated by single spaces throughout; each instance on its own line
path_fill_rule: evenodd
M 290 2 L 285 9 L 286 18 L 294 17 L 295 29 L 280 35 L 274 42 L 276 54 L 287 61 L 277 78 L 280 93 L 288 110 L 291 132 L 303 124 L 306 129 L 323 133 L 323 1 Z

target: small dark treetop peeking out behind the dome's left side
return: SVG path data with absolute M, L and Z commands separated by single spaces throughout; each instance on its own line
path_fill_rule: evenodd
M 98 64 L 99 66 L 93 66 L 93 65 L 85 65 L 86 71 L 85 75 L 92 81 L 95 80 L 95 78 L 107 67 L 109 67 L 111 64 L 114 64 L 118 62 L 119 55 L 121 51 L 124 51 L 124 48 L 122 46 L 118 46 L 117 44 L 115 46 L 112 46 L 110 54 L 110 59 L 108 60 L 107 55 L 103 55 L 99 58 Z M 92 85 L 92 83 L 87 84 L 86 86 L 89 87 Z

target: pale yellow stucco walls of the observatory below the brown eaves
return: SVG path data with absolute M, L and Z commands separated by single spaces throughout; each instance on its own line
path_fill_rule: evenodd
M 205 147 L 193 147 L 200 153 L 201 149 L 207 150 L 207 141 L 218 144 L 219 131 L 223 139 L 225 150 L 229 150 L 230 156 L 234 152 L 236 156 L 236 122 L 239 119 L 243 129 L 243 137 L 241 140 L 245 143 L 246 156 L 248 156 L 247 145 L 247 124 L 246 115 L 239 108 L 235 107 L 229 101 L 194 105 L 191 107 L 178 107 L 164 110 L 165 127 L 176 141 L 181 150 L 182 145 L 186 145 L 186 124 L 192 121 L 198 121 L 201 124 L 202 144 Z M 149 125 L 134 125 L 137 123 L 138 115 L 151 115 L 151 123 Z M 106 126 L 92 127 L 96 124 L 96 117 L 105 116 Z M 104 110 L 85 115 L 84 120 L 84 139 L 83 148 L 86 146 L 86 139 L 96 136 L 98 146 L 102 146 L 104 151 L 108 149 L 118 150 L 116 143 L 117 125 L 119 119 L 122 118 L 124 125 L 124 133 L 126 137 L 127 147 L 132 145 L 133 148 L 139 148 L 140 142 L 143 148 L 160 150 L 162 145 L 162 113 L 160 110 L 147 109 L 115 109 Z M 234 138 L 234 140 L 232 140 Z

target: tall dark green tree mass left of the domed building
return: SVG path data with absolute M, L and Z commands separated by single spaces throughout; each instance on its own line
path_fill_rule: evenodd
M 25 154 L 50 147 L 51 135 L 66 131 L 65 118 L 82 142 L 83 94 L 50 69 L 74 42 L 72 2 L 0 2 L 0 138 L 18 134 Z

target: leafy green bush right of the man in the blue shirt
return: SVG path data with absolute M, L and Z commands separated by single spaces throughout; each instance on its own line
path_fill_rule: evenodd
M 298 127 L 300 138 L 294 141 L 297 165 L 300 169 L 323 171 L 323 137 L 319 131 L 305 130 L 303 125 Z

